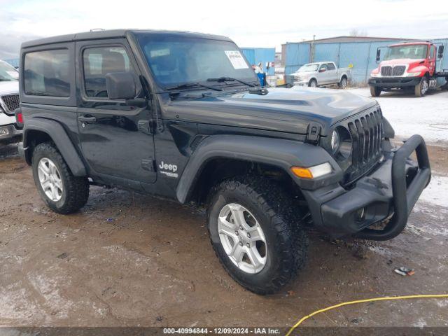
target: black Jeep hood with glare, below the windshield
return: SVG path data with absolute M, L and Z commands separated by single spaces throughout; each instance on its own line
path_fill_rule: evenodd
M 175 99 L 162 106 L 165 116 L 177 120 L 307 134 L 310 122 L 328 134 L 339 120 L 365 111 L 376 101 L 344 90 L 311 87 L 269 88 L 266 95 L 248 92 Z M 179 117 L 178 117 L 179 116 Z

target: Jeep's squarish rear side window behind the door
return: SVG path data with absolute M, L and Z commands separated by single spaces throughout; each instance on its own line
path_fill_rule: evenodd
M 25 94 L 70 97 L 69 50 L 45 50 L 25 54 Z

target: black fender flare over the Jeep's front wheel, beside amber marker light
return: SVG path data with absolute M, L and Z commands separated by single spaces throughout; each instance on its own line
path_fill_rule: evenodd
M 342 170 L 331 155 L 319 146 L 287 139 L 250 137 L 239 135 L 215 135 L 207 137 L 197 147 L 183 170 L 176 189 L 181 203 L 189 200 L 197 180 L 207 162 L 216 158 L 229 158 L 273 165 L 287 172 L 300 188 L 314 189 L 335 183 L 342 178 Z M 333 172 L 318 179 L 299 179 L 290 167 L 311 167 L 330 162 Z

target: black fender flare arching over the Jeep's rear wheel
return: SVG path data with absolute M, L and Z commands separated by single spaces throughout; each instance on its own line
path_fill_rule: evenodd
M 61 153 L 62 158 L 64 158 L 74 176 L 87 175 L 83 161 L 80 159 L 78 152 L 71 143 L 69 136 L 66 134 L 64 127 L 62 127 L 61 124 L 57 123 L 55 120 L 44 118 L 31 118 L 27 120 L 23 130 L 23 148 L 25 153 L 29 147 L 28 134 L 29 131 L 32 130 L 48 134 L 57 146 L 59 153 Z M 26 158 L 26 160 L 29 164 L 31 163 L 31 158 Z

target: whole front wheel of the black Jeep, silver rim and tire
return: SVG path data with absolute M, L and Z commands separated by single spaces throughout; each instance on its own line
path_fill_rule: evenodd
M 241 176 L 212 190 L 207 228 L 228 274 L 253 293 L 265 295 L 279 290 L 304 265 L 308 243 L 301 218 L 275 183 Z

